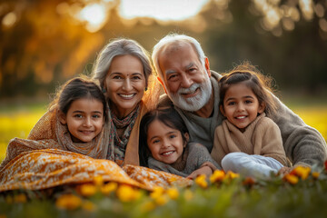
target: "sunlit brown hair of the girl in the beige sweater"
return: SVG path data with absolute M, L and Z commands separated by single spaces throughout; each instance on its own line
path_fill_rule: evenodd
M 259 104 L 265 104 L 264 112 L 267 115 L 275 114 L 277 106 L 272 98 L 272 78 L 263 76 L 263 74 L 249 62 L 236 66 L 228 74 L 224 74 L 219 80 L 221 105 L 223 105 L 223 98 L 231 85 L 239 83 L 244 83 L 247 87 L 251 88 L 258 98 Z

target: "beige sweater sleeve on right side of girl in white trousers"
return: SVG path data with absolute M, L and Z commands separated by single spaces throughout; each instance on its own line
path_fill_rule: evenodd
M 262 139 L 261 155 L 272 157 L 287 166 L 286 154 L 282 147 L 282 134 L 277 124 L 268 117 L 263 117 L 260 125 L 257 131 L 262 132 L 258 134 Z

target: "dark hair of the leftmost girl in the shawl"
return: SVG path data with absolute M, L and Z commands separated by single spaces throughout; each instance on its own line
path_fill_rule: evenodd
M 67 114 L 71 104 L 81 98 L 96 99 L 104 105 L 104 120 L 107 121 L 106 102 L 100 87 L 90 78 L 76 77 L 67 81 L 56 94 L 51 105 L 57 107 L 64 114 Z

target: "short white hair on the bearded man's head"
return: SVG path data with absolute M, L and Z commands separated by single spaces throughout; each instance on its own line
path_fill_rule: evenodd
M 199 60 L 203 67 L 205 67 L 204 59 L 205 55 L 200 43 L 191 36 L 188 35 L 178 35 L 178 34 L 169 34 L 164 36 L 156 45 L 154 45 L 154 51 L 152 54 L 152 60 L 154 63 L 154 68 L 159 75 L 163 75 L 159 67 L 158 55 L 163 50 L 164 46 L 167 45 L 178 45 L 179 43 L 188 43 L 193 45 L 195 52 L 198 54 Z

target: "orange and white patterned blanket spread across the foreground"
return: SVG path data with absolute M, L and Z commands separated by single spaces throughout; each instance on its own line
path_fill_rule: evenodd
M 191 185 L 191 180 L 149 168 L 94 159 L 58 149 L 43 149 L 17 155 L 0 170 L 0 192 L 40 190 L 63 184 L 90 183 L 101 175 L 104 182 L 130 184 L 151 191 L 154 186 Z

